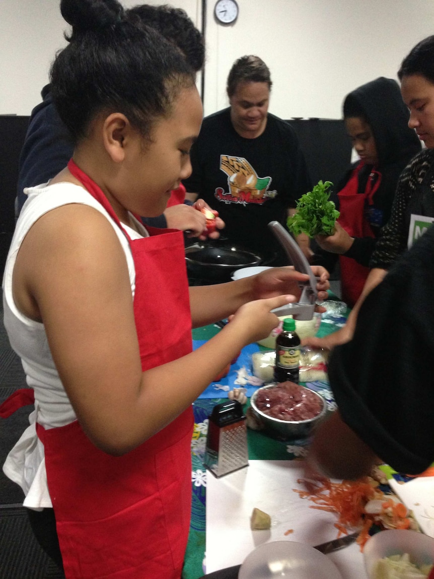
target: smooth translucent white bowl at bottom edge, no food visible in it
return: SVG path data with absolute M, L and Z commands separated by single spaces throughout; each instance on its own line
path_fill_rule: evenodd
M 256 547 L 245 559 L 238 579 L 342 579 L 326 556 L 295 541 L 271 541 Z

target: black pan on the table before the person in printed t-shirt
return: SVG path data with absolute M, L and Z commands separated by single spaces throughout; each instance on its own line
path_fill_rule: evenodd
M 186 247 L 185 260 L 190 278 L 217 283 L 230 281 L 235 270 L 263 264 L 263 258 L 258 254 L 216 241 L 196 241 Z

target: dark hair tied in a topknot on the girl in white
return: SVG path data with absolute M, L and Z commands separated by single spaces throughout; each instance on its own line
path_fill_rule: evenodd
M 158 117 L 170 115 L 195 73 L 172 43 L 116 0 L 61 0 L 72 26 L 69 44 L 52 64 L 54 104 L 75 142 L 97 113 L 122 112 L 149 138 Z

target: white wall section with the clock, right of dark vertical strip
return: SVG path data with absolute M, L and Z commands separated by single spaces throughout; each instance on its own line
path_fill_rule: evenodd
M 273 80 L 270 111 L 283 118 L 340 118 L 345 94 L 396 78 L 411 47 L 434 34 L 432 0 L 237 0 L 238 21 L 207 19 L 205 113 L 227 105 L 225 80 L 236 58 L 258 54 Z

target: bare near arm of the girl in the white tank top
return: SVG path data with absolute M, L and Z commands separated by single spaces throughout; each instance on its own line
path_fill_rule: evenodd
M 36 221 L 21 245 L 13 284 L 19 310 L 44 324 L 84 432 L 113 455 L 135 448 L 190 406 L 237 351 L 269 335 L 278 324 L 270 310 L 293 299 L 269 291 L 267 299 L 244 303 L 270 287 L 252 280 L 250 291 L 248 284 L 242 292 L 237 285 L 236 291 L 223 291 L 223 299 L 234 302 L 223 311 L 210 292 L 214 316 L 230 310 L 231 323 L 200 349 L 142 372 L 124 251 L 104 215 L 82 204 L 57 208 Z M 277 281 L 274 288 L 293 285 Z M 216 286 L 214 295 L 219 293 Z

